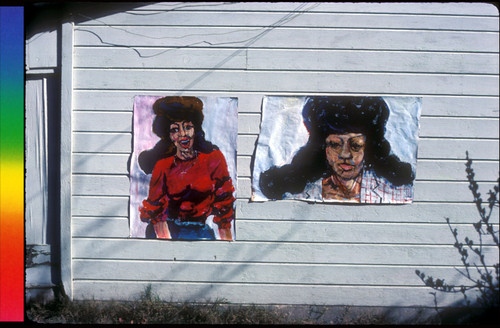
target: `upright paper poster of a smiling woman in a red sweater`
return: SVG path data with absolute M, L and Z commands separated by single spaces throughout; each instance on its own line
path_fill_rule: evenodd
M 234 240 L 238 99 L 136 96 L 130 236 Z

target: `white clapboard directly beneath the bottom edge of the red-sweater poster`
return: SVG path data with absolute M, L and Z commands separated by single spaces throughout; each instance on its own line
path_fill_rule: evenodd
M 244 261 L 265 263 L 344 263 L 386 265 L 462 265 L 452 245 L 398 245 L 310 242 L 165 241 L 74 238 L 73 258 L 114 260 Z M 486 260 L 497 250 L 484 247 Z

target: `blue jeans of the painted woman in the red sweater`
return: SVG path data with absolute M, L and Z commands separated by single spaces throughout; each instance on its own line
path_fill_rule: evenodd
M 215 240 L 215 233 L 208 225 L 199 222 L 181 222 L 167 219 L 168 230 L 172 239 L 182 240 Z M 153 224 L 146 228 L 146 238 L 156 238 Z

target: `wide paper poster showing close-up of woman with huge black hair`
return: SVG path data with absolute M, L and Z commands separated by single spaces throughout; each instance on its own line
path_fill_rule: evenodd
M 413 201 L 421 99 L 264 97 L 252 200 Z

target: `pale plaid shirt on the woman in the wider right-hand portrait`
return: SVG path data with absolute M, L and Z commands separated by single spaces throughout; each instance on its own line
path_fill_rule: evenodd
M 322 201 L 322 180 L 309 182 L 304 191 L 297 194 L 286 193 L 283 199 L 301 199 L 309 201 Z M 391 203 L 408 204 L 413 200 L 413 186 L 394 186 L 386 178 L 379 177 L 373 170 L 363 170 L 361 179 L 360 203 Z M 330 200 L 325 200 L 329 202 Z M 335 202 L 339 202 L 336 200 Z

